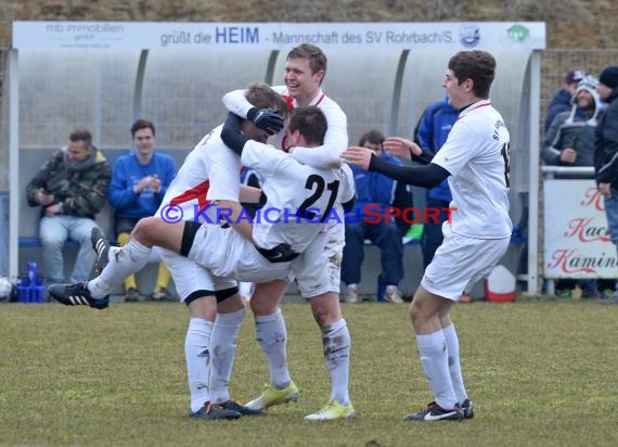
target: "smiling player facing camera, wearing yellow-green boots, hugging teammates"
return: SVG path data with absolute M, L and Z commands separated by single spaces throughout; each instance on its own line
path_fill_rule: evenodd
M 273 87 L 285 98 L 291 111 L 299 106 L 316 105 L 324 112 L 329 122 L 324 144 L 312 149 L 296 146 L 289 151 L 300 163 L 319 168 L 338 166 L 339 155 L 348 145 L 347 117 L 339 105 L 326 97 L 321 89 L 326 65 L 326 56 L 320 48 L 311 43 L 299 44 L 287 54 L 285 86 Z M 246 116 L 248 119 L 257 116 L 257 108 L 247 101 L 243 90 L 227 93 L 223 97 L 223 103 L 229 111 L 239 116 Z M 280 132 L 280 146 L 287 150 L 288 145 L 285 141 L 285 133 Z M 337 208 L 337 214 L 343 216 L 340 207 Z M 311 310 L 322 332 L 325 347 L 335 339 L 349 340 L 347 324 L 342 317 L 339 306 L 345 227 L 334 221 L 331 224 L 326 230 L 325 250 L 322 250 L 319 244 L 313 244 L 309 250 L 316 250 L 316 253 L 306 252 L 302 257 L 306 260 L 300 260 L 305 263 L 302 267 L 305 274 L 297 274 L 300 294 L 310 299 Z M 309 261 L 308 259 L 322 260 Z M 314 279 L 322 278 L 324 274 L 330 278 L 330 284 L 325 288 L 317 288 Z M 247 404 L 250 408 L 265 409 L 296 399 L 298 396 L 298 388 L 292 381 L 287 369 L 286 339 L 279 336 L 279 334 L 286 333 L 285 322 L 279 308 L 286 288 L 286 281 L 257 284 L 252 295 L 250 307 L 256 320 L 256 339 L 268 359 L 270 384 L 266 385 L 259 397 Z M 349 346 L 347 352 L 349 353 Z M 307 416 L 309 420 L 340 419 L 349 414 L 346 410 L 349 405 L 349 358 L 346 356 L 338 359 L 327 358 L 326 362 L 332 380 L 331 400 L 316 413 Z M 334 369 L 335 363 L 342 367 Z

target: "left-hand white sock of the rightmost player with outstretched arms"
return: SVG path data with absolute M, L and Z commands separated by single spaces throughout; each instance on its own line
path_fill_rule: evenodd
M 449 374 L 445 333 L 439 330 L 426 335 L 416 335 L 416 344 L 421 355 L 421 365 L 434 392 L 434 400 L 447 410 L 454 408 L 458 399 Z

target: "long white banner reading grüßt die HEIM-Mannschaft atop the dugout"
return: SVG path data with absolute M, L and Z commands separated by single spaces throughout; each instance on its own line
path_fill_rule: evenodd
M 348 48 L 545 49 L 544 22 L 183 23 L 14 22 L 13 47 L 289 49 L 310 42 Z

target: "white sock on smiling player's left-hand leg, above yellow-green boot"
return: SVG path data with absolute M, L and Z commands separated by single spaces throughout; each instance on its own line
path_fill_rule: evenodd
M 255 317 L 256 340 L 268 359 L 270 384 L 283 389 L 292 382 L 287 370 L 287 331 L 281 309 L 276 312 Z

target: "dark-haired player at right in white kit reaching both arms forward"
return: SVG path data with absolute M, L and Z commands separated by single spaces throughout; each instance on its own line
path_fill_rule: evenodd
M 442 81 L 449 103 L 460 115 L 442 149 L 426 166 L 395 166 L 363 148 L 349 148 L 344 158 L 409 184 L 432 188 L 449 179 L 453 195 L 451 221 L 445 240 L 410 305 L 421 363 L 434 393 L 425 409 L 405 420 L 440 421 L 472 418 L 461 372 L 459 340 L 450 309 L 476 281 L 487 276 L 506 252 L 512 222 L 508 217 L 510 136 L 489 100 L 495 60 L 485 51 L 453 55 Z M 390 153 L 410 158 L 421 149 L 403 138 L 384 142 Z

